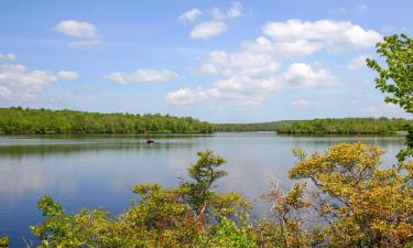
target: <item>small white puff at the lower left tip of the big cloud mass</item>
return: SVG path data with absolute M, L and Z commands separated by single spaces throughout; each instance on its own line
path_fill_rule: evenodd
M 166 100 L 174 105 L 187 105 L 202 101 L 208 98 L 208 94 L 200 88 L 181 88 L 176 91 L 169 93 Z

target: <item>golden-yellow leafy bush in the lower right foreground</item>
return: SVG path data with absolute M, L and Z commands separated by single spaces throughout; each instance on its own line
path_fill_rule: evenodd
M 309 180 L 312 208 L 330 247 L 404 247 L 413 238 L 412 163 L 380 168 L 384 151 L 341 143 L 303 158 L 292 179 Z

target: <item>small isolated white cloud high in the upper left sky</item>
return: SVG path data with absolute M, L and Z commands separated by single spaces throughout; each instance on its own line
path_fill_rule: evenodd
M 97 39 L 98 31 L 96 26 L 89 22 L 76 20 L 64 20 L 53 28 L 54 31 L 80 39 Z

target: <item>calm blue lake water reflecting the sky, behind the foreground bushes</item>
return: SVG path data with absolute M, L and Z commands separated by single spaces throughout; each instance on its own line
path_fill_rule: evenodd
M 209 149 L 228 160 L 229 175 L 220 191 L 257 198 L 274 179 L 285 179 L 294 163 L 291 150 L 312 152 L 338 142 L 363 141 L 385 149 L 384 162 L 394 162 L 403 137 L 294 137 L 274 133 L 216 133 L 88 137 L 0 137 L 0 236 L 12 247 L 35 240 L 29 226 L 42 220 L 36 201 L 52 195 L 68 212 L 105 206 L 120 213 L 130 204 L 137 183 L 176 185 L 196 152 Z

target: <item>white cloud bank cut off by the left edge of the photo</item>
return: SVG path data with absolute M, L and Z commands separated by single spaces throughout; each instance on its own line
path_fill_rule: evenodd
M 45 86 L 58 82 L 75 79 L 78 73 L 72 71 L 30 71 L 24 65 L 2 64 L 0 65 L 0 86 L 7 87 L 18 98 L 34 98 Z

